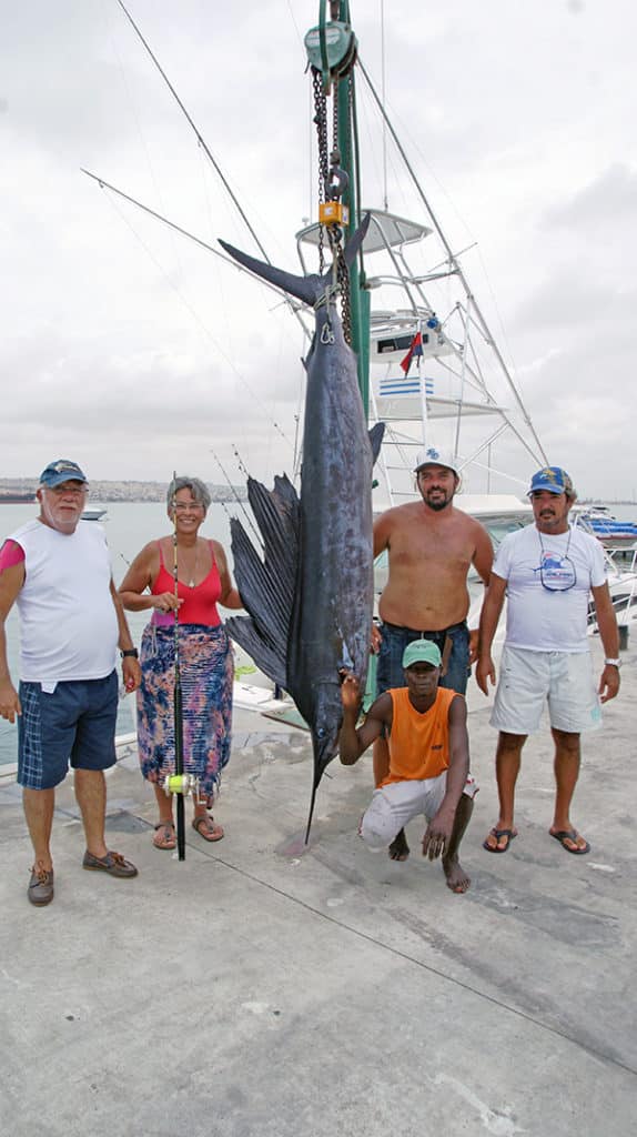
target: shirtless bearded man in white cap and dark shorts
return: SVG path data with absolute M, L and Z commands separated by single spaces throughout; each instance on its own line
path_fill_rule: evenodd
M 467 690 L 469 669 L 477 655 L 478 632 L 469 633 L 467 575 L 471 565 L 485 587 L 493 563 L 486 529 L 456 509 L 453 496 L 460 478 L 453 459 L 429 447 L 419 456 L 414 473 L 421 501 L 387 509 L 374 526 L 374 556 L 387 549 L 389 574 L 378 606 L 380 646 L 377 695 L 403 687 L 402 656 L 412 640 L 433 640 L 443 659 L 441 687 L 460 695 Z M 376 786 L 387 777 L 389 755 L 385 739 L 374 744 Z M 394 861 L 405 861 L 409 846 L 401 830 L 389 846 Z

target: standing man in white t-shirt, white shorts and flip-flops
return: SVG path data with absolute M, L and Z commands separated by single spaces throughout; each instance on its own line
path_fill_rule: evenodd
M 556 782 L 548 831 L 567 853 L 581 855 L 590 848 L 569 812 L 579 773 L 579 737 L 601 725 L 600 703 L 619 691 L 620 661 L 602 547 L 596 538 L 569 525 L 576 497 L 560 466 L 534 474 L 529 498 L 535 524 L 502 541 L 483 605 L 476 679 L 487 695 L 489 681 L 495 683 L 491 647 L 506 597 L 506 637 L 491 716 L 500 731 L 495 755 L 500 818 L 484 841 L 488 853 L 505 853 L 518 833 L 513 804 L 522 747 L 539 728 L 546 704 Z M 597 687 L 587 638 L 590 595 L 606 657 Z

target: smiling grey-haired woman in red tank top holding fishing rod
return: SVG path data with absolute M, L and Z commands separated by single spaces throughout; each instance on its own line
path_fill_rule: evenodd
M 210 493 L 199 478 L 176 478 L 168 487 L 175 533 L 150 541 L 135 557 L 119 594 L 131 612 L 152 609 L 142 636 L 142 684 L 137 691 L 137 746 L 144 778 L 154 786 L 159 821 L 153 845 L 175 848 L 173 797 L 165 778 L 175 771 L 175 609 L 183 697 L 184 771 L 199 779 L 193 828 L 207 841 L 224 830 L 208 812 L 231 754 L 233 654 L 217 604 L 241 608 L 226 555 L 199 530 Z M 176 538 L 176 543 L 175 543 Z M 177 596 L 174 564 L 177 558 Z

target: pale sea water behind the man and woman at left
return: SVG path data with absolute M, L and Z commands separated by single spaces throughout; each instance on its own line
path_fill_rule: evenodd
M 90 501 L 93 508 L 99 505 Z M 91 521 L 86 524 L 102 525 L 107 536 L 110 549 L 112 576 L 118 586 L 124 574 L 148 541 L 157 539 L 171 532 L 170 522 L 166 515 L 166 506 L 161 501 L 111 501 L 107 506 L 107 514 L 101 522 Z M 243 507 L 236 503 L 212 503 L 206 521 L 200 530 L 201 537 L 215 538 L 220 541 L 226 550 L 228 563 L 232 563 L 229 549 L 229 518 L 231 515 L 238 515 L 245 522 L 242 513 Z M 0 505 L 0 543 L 2 540 L 20 525 L 37 516 L 39 506 L 34 505 Z M 221 608 L 221 615 L 224 615 Z M 126 613 L 128 626 L 135 647 L 140 646 L 142 632 L 150 620 L 150 609 L 145 612 Z M 17 608 L 9 613 L 7 623 L 7 657 L 14 684 L 18 686 L 19 679 L 19 617 Z M 134 730 L 133 699 L 134 695 L 125 696 L 119 700 L 117 716 L 117 733 L 127 735 Z M 11 725 L 5 719 L 0 719 L 0 765 L 17 762 L 17 725 Z

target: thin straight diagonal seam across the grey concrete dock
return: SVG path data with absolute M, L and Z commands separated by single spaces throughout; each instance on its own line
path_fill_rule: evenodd
M 491 1004 L 492 1006 L 497 1007 L 500 1011 L 505 1011 L 509 1014 L 514 1015 L 517 1019 L 521 1019 L 523 1022 L 528 1022 L 531 1026 L 537 1027 L 539 1030 L 545 1030 L 547 1034 L 553 1035 L 556 1038 L 561 1038 L 572 1046 L 579 1047 L 580 1049 L 585 1051 L 587 1054 L 592 1054 L 596 1059 L 601 1059 L 604 1062 L 610 1062 L 612 1065 L 618 1067 L 618 1069 L 620 1070 L 626 1070 L 628 1073 L 637 1074 L 637 1067 L 631 1067 L 627 1062 L 622 1062 L 620 1059 L 615 1057 L 612 1054 L 606 1053 L 605 1051 L 598 1049 L 595 1046 L 590 1046 L 587 1043 L 582 1043 L 579 1041 L 578 1039 L 575 1039 L 572 1037 L 572 1034 L 569 1034 L 567 1029 L 561 1029 L 560 1027 L 553 1027 L 551 1026 L 551 1023 L 544 1022 L 542 1019 L 536 1018 L 529 1012 L 522 1011 L 516 1006 L 511 1006 L 509 1003 L 504 1003 L 495 995 L 489 995 L 487 991 L 483 991 L 478 987 L 473 987 L 466 980 L 458 979 L 455 976 L 450 976 L 445 971 L 442 971 L 439 968 L 435 968 L 433 964 L 426 963 L 424 960 L 417 958 L 417 956 L 411 955 L 409 952 L 395 947 L 392 944 L 384 944 L 383 940 L 377 939 L 369 932 L 361 931 L 359 928 L 354 928 L 352 924 L 345 923 L 343 920 L 337 920 L 336 916 L 329 915 L 327 912 L 321 912 L 320 908 L 317 908 L 312 904 L 309 904 L 308 901 L 302 901 L 297 896 L 292 896 L 291 893 L 286 893 L 285 889 L 283 888 L 277 888 L 276 885 L 273 885 L 268 880 L 262 880 L 260 877 L 257 877 L 253 872 L 250 872 L 248 869 L 241 869 L 238 865 L 232 864 L 229 861 L 225 861 L 224 857 L 212 853 L 211 849 L 201 849 L 201 853 L 203 854 L 203 856 L 210 857 L 210 860 L 216 861 L 218 864 L 223 864 L 224 868 L 229 869 L 231 872 L 236 872 L 238 873 L 238 875 L 245 878 L 246 880 L 252 881 L 252 883 L 260 885 L 262 888 L 268 889 L 270 893 L 274 893 L 275 895 L 280 896 L 286 901 L 290 901 L 292 904 L 295 904 L 297 907 L 303 908 L 305 912 L 310 912 L 312 915 L 318 916 L 324 922 L 334 924 L 334 927 L 342 929 L 342 931 L 347 931 L 352 936 L 355 936 L 358 939 L 363 940 L 367 944 L 371 944 L 374 947 L 378 947 L 380 948 L 380 951 L 387 952 L 389 955 L 399 960 L 404 960 L 406 963 L 413 963 L 417 968 L 420 968 L 421 971 L 426 971 L 428 974 L 435 976 L 437 979 L 442 979 L 445 982 L 452 984 L 460 990 L 466 991 L 469 995 L 475 995 L 477 998 L 481 999 L 485 1003 Z

